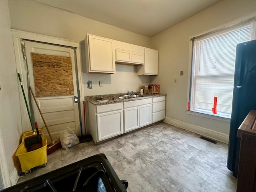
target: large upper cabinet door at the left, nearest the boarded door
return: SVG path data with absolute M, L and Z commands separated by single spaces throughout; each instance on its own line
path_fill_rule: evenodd
M 88 35 L 89 70 L 87 72 L 115 73 L 114 40 Z

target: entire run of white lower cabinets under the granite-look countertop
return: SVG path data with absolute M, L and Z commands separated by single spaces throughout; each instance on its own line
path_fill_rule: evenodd
M 95 143 L 165 118 L 165 96 L 94 106 L 88 103 L 90 134 Z

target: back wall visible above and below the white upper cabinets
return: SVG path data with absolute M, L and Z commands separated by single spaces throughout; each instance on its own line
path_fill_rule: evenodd
M 86 34 L 94 34 L 122 42 L 149 47 L 150 38 L 97 22 L 70 12 L 58 10 L 29 0 L 10 0 L 11 27 L 13 29 L 82 41 Z M 92 81 L 92 90 L 86 82 Z M 99 81 L 103 86 L 99 87 Z M 83 74 L 85 95 L 139 91 L 142 83 L 150 83 L 149 76 L 137 76 L 134 66 L 116 66 L 116 74 Z

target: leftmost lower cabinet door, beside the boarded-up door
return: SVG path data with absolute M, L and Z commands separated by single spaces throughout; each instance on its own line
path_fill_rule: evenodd
M 98 140 L 104 140 L 123 133 L 122 110 L 97 114 Z

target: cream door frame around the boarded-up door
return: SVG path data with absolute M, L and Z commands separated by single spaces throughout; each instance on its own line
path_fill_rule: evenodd
M 20 41 L 22 39 L 26 40 L 34 40 L 37 42 L 42 42 L 42 43 L 50 43 L 50 44 L 55 44 L 56 46 L 68 46 L 68 47 L 75 47 L 77 48 L 76 51 L 76 61 L 77 61 L 77 70 L 78 70 L 78 83 L 79 87 L 78 90 L 80 90 L 80 109 L 83 108 L 83 99 L 84 98 L 84 87 L 82 86 L 82 61 L 81 61 L 81 56 L 80 56 L 80 42 L 72 41 L 72 40 L 67 40 L 67 39 L 62 39 L 62 38 L 57 38 L 57 37 L 52 37 L 52 36 L 46 36 L 42 34 L 36 34 L 36 33 L 31 33 L 31 32 L 25 32 L 21 30 L 14 30 L 11 29 L 12 31 L 12 38 L 14 42 L 14 54 L 15 54 L 15 59 L 16 59 L 16 66 L 17 69 L 20 72 L 20 76 L 22 79 L 22 82 L 26 82 L 26 76 L 24 67 L 23 65 L 23 55 L 22 55 L 22 50 L 21 50 L 21 45 Z M 27 86 L 24 86 L 24 92 L 25 94 L 28 93 Z M 20 109 L 22 114 L 27 114 L 26 111 L 26 106 L 24 102 L 21 102 L 21 99 L 23 98 L 21 92 L 20 93 Z M 26 98 L 28 98 L 28 95 L 26 95 Z M 83 114 L 83 111 L 81 110 L 81 114 Z M 82 118 L 82 117 L 81 117 Z M 82 126 L 84 127 L 84 122 L 82 121 Z M 28 118 L 28 115 L 26 115 L 26 118 L 22 118 L 22 131 L 26 131 L 27 129 L 24 129 L 26 127 L 30 127 L 30 120 Z

